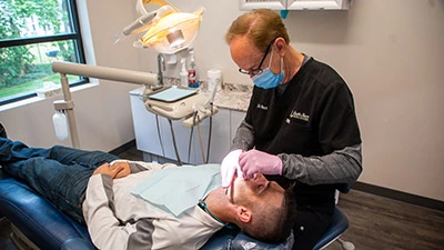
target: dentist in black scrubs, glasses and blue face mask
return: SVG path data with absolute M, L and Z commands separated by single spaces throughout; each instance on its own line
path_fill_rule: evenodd
M 240 16 L 225 40 L 254 89 L 222 161 L 222 186 L 229 188 L 235 174 L 256 173 L 293 184 L 293 249 L 312 249 L 331 222 L 335 189 L 362 172 L 352 92 L 331 67 L 293 49 L 272 10 Z

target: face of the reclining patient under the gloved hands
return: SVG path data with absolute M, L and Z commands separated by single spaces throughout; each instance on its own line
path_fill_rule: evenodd
M 274 181 L 269 181 L 262 173 L 256 173 L 253 179 L 236 178 L 232 183 L 232 202 L 249 206 L 252 203 L 268 203 L 280 206 L 285 196 L 285 190 Z

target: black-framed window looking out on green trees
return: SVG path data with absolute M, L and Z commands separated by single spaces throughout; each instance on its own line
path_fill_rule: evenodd
M 75 0 L 0 1 L 0 104 L 53 82 L 54 60 L 84 63 Z M 87 79 L 68 76 L 71 86 Z

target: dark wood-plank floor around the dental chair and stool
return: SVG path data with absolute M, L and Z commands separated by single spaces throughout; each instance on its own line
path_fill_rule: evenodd
M 142 160 L 134 148 L 119 154 L 122 159 Z M 340 208 L 350 227 L 341 237 L 356 250 L 444 250 L 444 212 L 422 208 L 356 190 L 341 194 Z M 0 249 L 16 250 L 9 239 L 10 224 L 0 221 Z M 341 250 L 333 242 L 327 250 Z

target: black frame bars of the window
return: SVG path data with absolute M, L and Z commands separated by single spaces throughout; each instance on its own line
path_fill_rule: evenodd
M 72 40 L 74 50 L 77 52 L 78 63 L 85 63 L 85 54 L 83 48 L 83 38 L 80 27 L 79 19 L 79 9 L 77 4 L 77 0 L 65 0 L 68 6 L 68 11 L 70 13 L 70 21 L 72 22 L 72 32 L 63 33 L 63 34 L 53 34 L 53 36 L 43 36 L 43 37 L 33 37 L 33 38 L 12 38 L 12 39 L 0 39 L 0 49 L 1 48 L 10 48 L 18 46 L 29 46 L 37 44 L 42 42 L 53 42 L 53 41 L 68 41 Z M 84 84 L 89 82 L 89 78 L 80 77 L 78 81 L 70 82 L 70 87 L 75 87 L 79 84 Z M 23 93 L 18 97 L 0 100 L 0 106 L 9 104 L 12 102 L 21 101 L 24 99 L 37 97 L 37 92 L 33 93 Z

